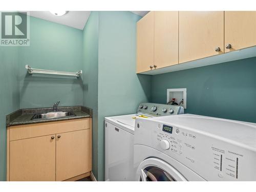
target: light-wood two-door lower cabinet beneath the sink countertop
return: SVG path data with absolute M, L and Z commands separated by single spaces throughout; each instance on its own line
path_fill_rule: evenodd
M 87 118 L 8 127 L 7 181 L 64 181 L 89 176 L 91 121 Z

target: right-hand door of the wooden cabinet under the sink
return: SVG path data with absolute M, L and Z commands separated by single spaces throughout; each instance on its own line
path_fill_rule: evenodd
M 60 133 L 56 136 L 56 181 L 89 172 L 90 129 Z

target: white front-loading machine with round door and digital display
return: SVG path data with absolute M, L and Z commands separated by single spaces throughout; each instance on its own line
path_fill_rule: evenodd
M 256 123 L 183 114 L 135 127 L 136 181 L 256 181 Z

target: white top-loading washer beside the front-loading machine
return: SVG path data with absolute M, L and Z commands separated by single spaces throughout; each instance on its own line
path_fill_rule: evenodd
M 183 114 L 182 106 L 142 102 L 136 114 L 105 117 L 105 181 L 133 181 L 135 119 Z

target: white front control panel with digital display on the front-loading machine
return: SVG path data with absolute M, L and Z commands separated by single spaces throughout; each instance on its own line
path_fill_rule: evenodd
M 135 144 L 155 148 L 206 180 L 256 180 L 256 152 L 246 147 L 171 122 L 141 118 L 136 119 L 135 127 Z

